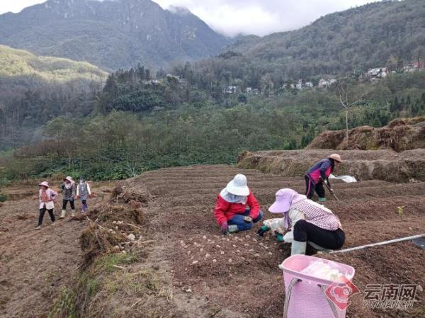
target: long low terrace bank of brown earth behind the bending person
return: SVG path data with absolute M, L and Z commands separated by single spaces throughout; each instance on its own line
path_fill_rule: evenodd
M 238 157 L 238 166 L 283 176 L 303 176 L 314 162 L 326 158 L 332 152 L 335 151 L 310 149 L 243 152 Z M 339 150 L 338 153 L 344 160 L 340 166 L 340 175 L 355 176 L 358 180 L 425 181 L 425 149 L 399 153 L 392 150 Z

